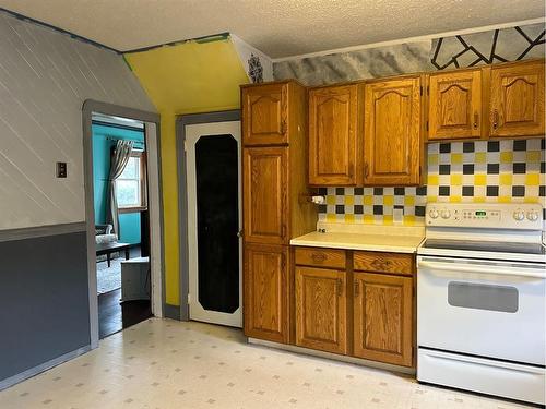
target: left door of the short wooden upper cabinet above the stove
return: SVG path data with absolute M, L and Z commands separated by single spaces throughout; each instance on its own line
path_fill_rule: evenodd
M 428 139 L 453 140 L 482 135 L 482 70 L 431 74 Z

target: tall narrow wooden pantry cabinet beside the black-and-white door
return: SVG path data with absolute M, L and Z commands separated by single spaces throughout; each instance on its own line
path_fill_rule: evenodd
M 241 87 L 245 334 L 289 340 L 289 240 L 314 230 L 307 193 L 307 92 L 293 81 Z

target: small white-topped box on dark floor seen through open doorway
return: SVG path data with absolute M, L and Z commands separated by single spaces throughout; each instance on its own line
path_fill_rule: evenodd
M 150 300 L 150 258 L 121 262 L 121 302 Z

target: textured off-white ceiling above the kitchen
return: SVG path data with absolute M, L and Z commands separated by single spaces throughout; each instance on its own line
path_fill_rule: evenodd
M 272 58 L 545 15 L 544 0 L 0 0 L 118 50 L 229 32 Z

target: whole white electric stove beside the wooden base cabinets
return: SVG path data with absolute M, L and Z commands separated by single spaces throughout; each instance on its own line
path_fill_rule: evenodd
M 546 252 L 535 204 L 429 204 L 417 380 L 545 404 Z

